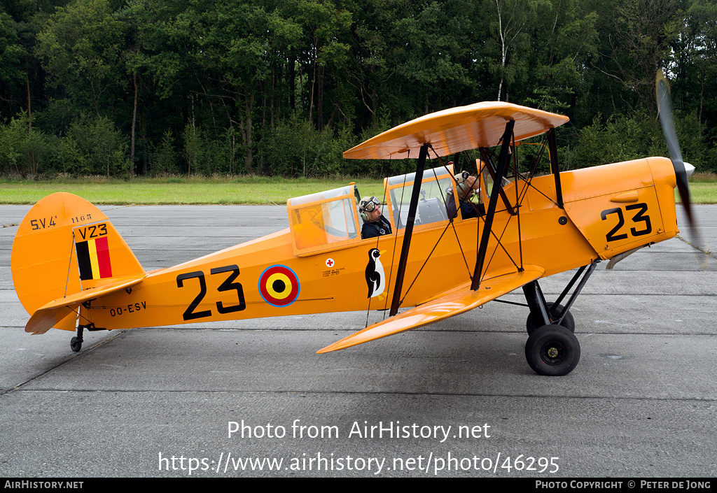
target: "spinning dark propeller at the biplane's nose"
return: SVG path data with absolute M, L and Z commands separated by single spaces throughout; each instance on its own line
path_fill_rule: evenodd
M 690 227 L 690 236 L 697 243 L 697 248 L 701 249 L 701 241 L 698 238 L 697 223 L 692 210 L 692 201 L 690 200 L 690 186 L 688 177 L 695 171 L 695 167 L 682 160 L 682 152 L 680 151 L 680 143 L 675 132 L 675 123 L 673 122 L 672 100 L 670 99 L 670 88 L 668 81 L 665 79 L 663 71 L 660 69 L 655 77 L 655 92 L 657 93 L 657 116 L 660 118 L 660 125 L 663 128 L 665 140 L 670 150 L 670 160 L 675 168 L 675 178 L 677 178 L 677 189 L 680 193 L 680 200 L 685 208 L 685 215 Z M 700 262 L 703 269 L 706 264 Z

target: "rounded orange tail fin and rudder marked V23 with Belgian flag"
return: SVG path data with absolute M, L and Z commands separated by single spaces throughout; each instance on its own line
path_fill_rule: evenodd
M 56 310 L 49 317 L 51 325 L 32 332 L 49 327 L 75 330 L 79 293 L 144 275 L 108 217 L 72 193 L 53 193 L 32 206 L 15 234 L 11 272 L 17 297 L 29 314 L 68 301 L 62 316 Z

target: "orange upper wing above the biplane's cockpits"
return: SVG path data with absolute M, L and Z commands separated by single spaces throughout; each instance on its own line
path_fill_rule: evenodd
M 513 105 L 510 102 L 485 101 L 437 111 L 386 130 L 343 153 L 346 159 L 417 158 L 418 148 L 430 143 L 437 155 L 496 145 L 505 133 L 508 121 L 516 122 L 515 140 L 546 133 L 569 118 L 556 113 Z M 413 153 L 409 153 L 413 150 Z

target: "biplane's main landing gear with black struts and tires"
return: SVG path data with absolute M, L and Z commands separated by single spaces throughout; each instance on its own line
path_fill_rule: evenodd
M 538 281 L 523 286 L 526 302 L 531 309 L 526 329 L 526 360 L 538 375 L 560 376 L 570 373 L 580 361 L 580 343 L 574 335 L 575 321 L 570 313 L 576 297 L 580 294 L 597 262 L 580 267 L 555 302 L 548 303 Z M 584 273 L 565 306 L 561 305 L 575 282 Z

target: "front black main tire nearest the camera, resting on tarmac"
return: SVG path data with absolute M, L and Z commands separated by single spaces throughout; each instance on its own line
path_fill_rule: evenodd
M 567 375 L 580 361 L 580 343 L 566 327 L 544 325 L 528 337 L 526 360 L 538 375 Z

